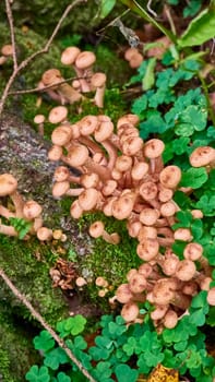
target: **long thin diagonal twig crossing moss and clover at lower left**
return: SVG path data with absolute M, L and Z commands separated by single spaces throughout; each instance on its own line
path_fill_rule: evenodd
M 20 293 L 20 290 L 13 285 L 13 283 L 10 280 L 10 278 L 5 275 L 2 268 L 0 268 L 0 276 L 3 278 L 8 287 L 12 290 L 14 296 L 22 301 L 22 303 L 25 305 L 25 307 L 31 311 L 32 315 L 39 321 L 43 327 L 47 330 L 47 332 L 50 333 L 50 335 L 53 337 L 53 339 L 57 342 L 57 344 L 65 351 L 68 357 L 71 359 L 73 363 L 76 365 L 79 370 L 91 382 L 96 382 L 94 378 L 88 373 L 88 371 L 83 367 L 83 365 L 76 359 L 76 357 L 72 354 L 72 351 L 67 347 L 64 341 L 59 337 L 59 335 L 52 330 L 51 326 L 44 320 L 44 318 L 34 309 L 32 303 L 26 299 L 26 297 Z

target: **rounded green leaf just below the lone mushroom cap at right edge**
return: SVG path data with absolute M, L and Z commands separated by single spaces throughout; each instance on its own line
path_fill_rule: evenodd
M 192 189 L 199 189 L 208 179 L 208 175 L 204 167 L 200 168 L 189 168 L 182 174 L 180 187 L 191 187 Z

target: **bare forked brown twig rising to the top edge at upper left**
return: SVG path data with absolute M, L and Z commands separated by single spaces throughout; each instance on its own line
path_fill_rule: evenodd
M 68 5 L 62 14 L 62 16 L 60 17 L 60 20 L 58 21 L 51 36 L 49 37 L 48 41 L 46 43 L 45 47 L 38 51 L 36 51 L 35 53 L 33 53 L 32 56 L 27 57 L 25 60 L 23 60 L 16 68 L 13 69 L 13 73 L 11 74 L 5 87 L 4 87 L 4 91 L 3 91 L 3 94 L 2 94 L 2 97 L 0 99 L 0 116 L 3 111 L 3 108 L 4 108 L 4 104 L 5 104 L 5 100 L 8 98 L 8 95 L 9 95 L 9 91 L 15 80 L 15 77 L 17 76 L 17 74 L 20 73 L 21 70 L 23 70 L 25 67 L 28 65 L 28 63 L 31 61 L 33 61 L 37 56 L 39 55 L 43 55 L 43 53 L 47 53 L 49 48 L 50 48 L 50 45 L 53 40 L 53 38 L 56 37 L 58 31 L 60 29 L 60 26 L 63 22 L 63 20 L 67 17 L 67 15 L 69 14 L 69 12 L 74 8 L 76 7 L 77 4 L 82 3 L 82 2 L 86 2 L 87 0 L 75 0 L 72 4 Z M 12 27 L 10 26 L 10 31 L 11 31 L 11 40 L 13 39 L 12 37 L 12 34 L 13 34 L 13 19 L 11 17 L 12 16 L 12 12 L 11 12 L 11 5 L 10 5 L 10 2 L 9 0 L 5 0 L 5 4 L 7 4 L 7 15 L 8 15 L 8 19 L 10 20 L 10 23 L 12 24 Z M 8 13 L 8 9 L 9 9 L 9 13 Z M 10 16 L 11 14 L 11 16 Z

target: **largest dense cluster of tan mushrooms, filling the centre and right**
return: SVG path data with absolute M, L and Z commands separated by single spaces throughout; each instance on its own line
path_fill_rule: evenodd
M 138 240 L 136 253 L 142 264 L 131 270 L 128 283 L 117 289 L 116 299 L 123 305 L 121 314 L 127 322 L 141 320 L 139 305 L 147 300 L 154 306 L 151 318 L 155 325 L 174 327 L 192 297 L 210 289 L 212 270 L 202 246 L 192 241 L 191 230 L 172 229 L 180 210 L 172 199 L 180 188 L 180 168 L 164 166 L 163 141 L 143 142 L 138 123 L 135 115 L 126 115 L 115 129 L 110 118 L 100 115 L 57 127 L 51 151 L 61 153 L 58 159 L 65 166 L 56 168 L 52 194 L 76 196 L 70 208 L 73 218 L 101 211 L 106 216 L 126 219 L 130 237 Z M 201 156 L 206 151 L 202 148 Z M 212 155 L 210 160 L 213 159 Z M 76 168 L 80 176 L 71 175 L 69 167 Z M 71 188 L 71 183 L 76 187 Z M 193 218 L 202 217 L 201 211 L 191 213 Z M 101 222 L 91 225 L 89 235 L 119 242 L 118 234 L 107 234 Z M 171 250 L 176 240 L 186 244 L 181 260 Z

